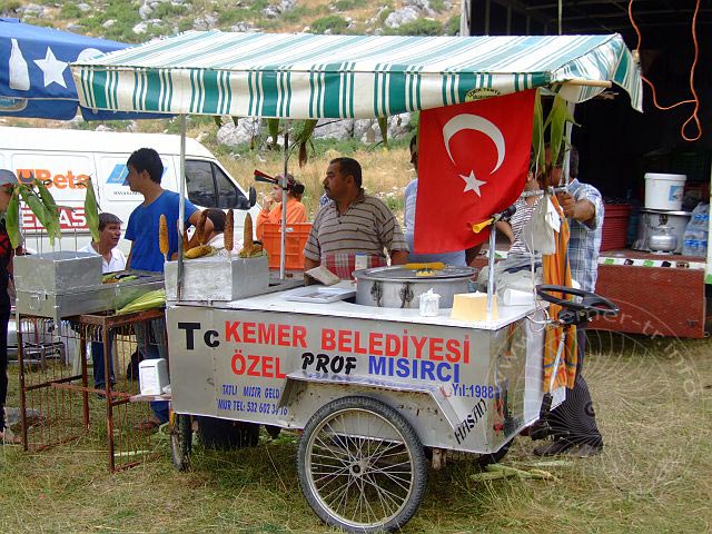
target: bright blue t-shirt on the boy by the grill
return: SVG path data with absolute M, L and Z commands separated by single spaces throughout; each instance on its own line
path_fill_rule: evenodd
M 178 251 L 178 208 L 180 206 L 180 195 L 174 191 L 164 191 L 160 197 L 148 206 L 139 206 L 129 217 L 126 227 L 126 238 L 134 241 L 131 246 L 130 268 L 138 270 L 164 271 L 164 255 L 160 254 L 158 244 L 158 227 L 161 214 L 166 216 L 168 222 L 168 258 Z M 185 225 L 188 219 L 198 210 L 186 199 Z

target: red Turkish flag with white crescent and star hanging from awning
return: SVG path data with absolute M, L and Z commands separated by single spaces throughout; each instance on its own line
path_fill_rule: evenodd
M 512 206 L 528 170 L 536 90 L 421 112 L 416 253 L 465 250 L 490 227 L 472 225 Z

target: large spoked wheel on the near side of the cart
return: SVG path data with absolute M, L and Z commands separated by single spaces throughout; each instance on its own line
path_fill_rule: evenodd
M 423 445 L 411 424 L 370 397 L 344 397 L 317 411 L 304 428 L 297 467 L 312 508 L 348 532 L 405 525 L 427 481 Z

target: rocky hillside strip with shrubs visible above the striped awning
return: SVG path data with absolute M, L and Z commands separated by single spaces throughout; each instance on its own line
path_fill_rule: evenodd
M 456 34 L 457 0 L 0 0 L 0 16 L 122 42 L 190 29 Z

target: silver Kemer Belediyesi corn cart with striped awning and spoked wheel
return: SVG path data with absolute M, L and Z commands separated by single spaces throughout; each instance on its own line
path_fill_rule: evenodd
M 637 66 L 620 36 L 191 31 L 75 63 L 72 73 L 89 107 L 181 116 L 374 118 L 535 87 L 576 102 L 611 81 L 641 106 Z M 250 259 L 217 268 L 248 271 L 235 264 Z M 209 277 L 215 261 L 190 268 Z M 179 466 L 192 415 L 303 429 L 297 469 L 314 511 L 345 530 L 389 531 L 417 510 L 426 457 L 439 465 L 446 451 L 461 451 L 496 459 L 538 418 L 540 304 L 501 305 L 479 320 L 452 319 L 445 308 L 423 317 L 407 297 L 415 277 L 384 280 L 398 285 L 399 307 L 348 300 L 358 295 L 352 281 L 305 289 L 251 276 L 231 277 L 250 291 L 261 284 L 250 296 L 185 300 L 187 266 L 178 261 L 166 310 Z M 601 313 L 568 305 L 572 322 Z

